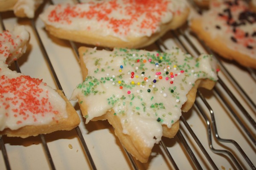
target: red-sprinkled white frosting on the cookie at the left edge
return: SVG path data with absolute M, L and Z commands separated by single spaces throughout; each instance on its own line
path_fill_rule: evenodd
M 28 40 L 24 26 L 15 27 L 12 33 L 0 33 L 0 130 L 45 125 L 67 118 L 66 102 L 55 90 L 42 80 L 11 71 L 5 63 Z M 17 54 L 25 50 L 26 47 L 20 48 Z

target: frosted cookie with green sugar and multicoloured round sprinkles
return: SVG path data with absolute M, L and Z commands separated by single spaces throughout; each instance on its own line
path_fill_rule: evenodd
M 188 111 L 198 87 L 212 89 L 216 62 L 209 55 L 194 59 L 179 48 L 164 53 L 114 48 L 79 48 L 84 82 L 78 99 L 86 123 L 105 120 L 136 159 L 147 162 L 162 136 L 179 129 L 181 111 Z

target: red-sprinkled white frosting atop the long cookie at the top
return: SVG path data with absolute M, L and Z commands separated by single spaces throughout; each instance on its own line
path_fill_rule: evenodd
M 49 6 L 40 17 L 56 28 L 90 30 L 127 40 L 127 36 L 149 37 L 159 32 L 161 24 L 170 22 L 185 7 L 184 0 L 104 0 Z

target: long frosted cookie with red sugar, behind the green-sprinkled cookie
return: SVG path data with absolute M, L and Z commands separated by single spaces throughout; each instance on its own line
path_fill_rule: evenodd
M 104 47 L 150 45 L 188 17 L 184 0 L 100 0 L 49 6 L 40 15 L 55 37 Z

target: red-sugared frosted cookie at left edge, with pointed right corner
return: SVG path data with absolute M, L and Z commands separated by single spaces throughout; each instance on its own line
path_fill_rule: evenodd
M 26 138 L 71 130 L 80 119 L 64 94 L 6 64 L 25 52 L 28 40 L 24 26 L 0 33 L 0 135 Z

